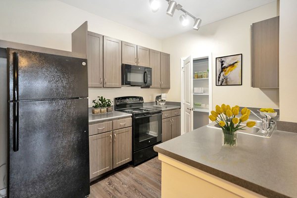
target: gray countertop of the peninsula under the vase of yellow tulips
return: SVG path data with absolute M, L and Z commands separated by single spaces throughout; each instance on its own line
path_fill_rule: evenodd
M 220 129 L 204 126 L 154 150 L 265 197 L 297 198 L 297 133 L 239 133 L 235 148 L 222 147 L 221 138 Z

